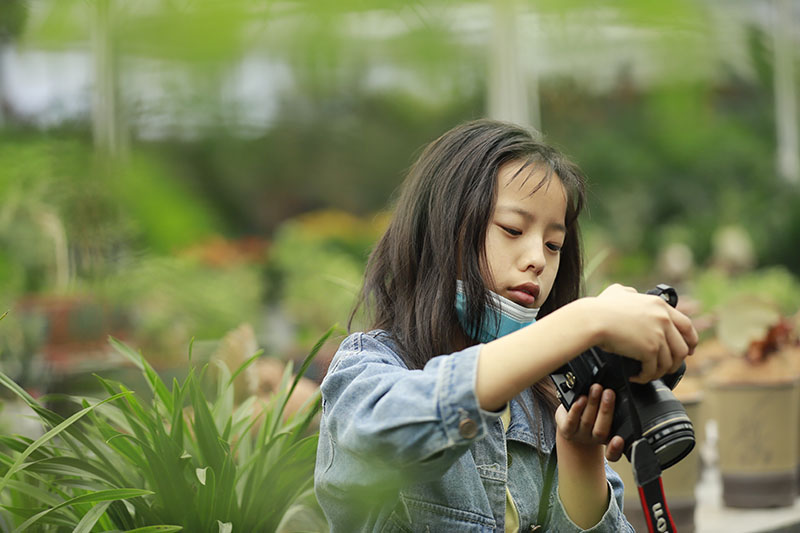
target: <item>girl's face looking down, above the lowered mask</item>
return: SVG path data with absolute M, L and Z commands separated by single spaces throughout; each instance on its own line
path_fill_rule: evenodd
M 512 161 L 497 173 L 497 203 L 486 231 L 490 289 L 525 307 L 541 307 L 558 273 L 567 230 L 560 178 L 536 191 L 544 171 Z

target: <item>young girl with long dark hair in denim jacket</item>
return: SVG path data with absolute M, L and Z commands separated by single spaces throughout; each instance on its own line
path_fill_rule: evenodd
M 632 531 L 605 464 L 624 447 L 613 391 L 567 412 L 548 374 L 599 345 L 647 382 L 697 334 L 656 296 L 579 298 L 583 201 L 580 170 L 511 124 L 422 153 L 367 266 L 373 330 L 322 383 L 315 489 L 333 533 Z

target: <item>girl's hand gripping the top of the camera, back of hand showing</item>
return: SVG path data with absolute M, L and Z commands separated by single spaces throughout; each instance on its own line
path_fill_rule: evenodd
M 615 284 L 596 303 L 600 348 L 642 363 L 641 373 L 631 381 L 647 383 L 675 372 L 694 353 L 697 331 L 692 321 L 659 296 Z

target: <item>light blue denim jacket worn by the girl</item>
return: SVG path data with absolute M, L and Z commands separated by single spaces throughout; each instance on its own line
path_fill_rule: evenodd
M 480 345 L 409 370 L 386 332 L 342 342 L 322 382 L 314 486 L 331 533 L 503 532 L 506 485 L 533 531 L 545 464 L 555 441 L 550 416 L 533 396 L 510 402 L 511 424 L 482 410 L 475 394 Z M 538 423 L 541 421 L 541 423 Z M 633 532 L 622 514 L 622 481 L 606 465 L 612 496 L 591 532 Z M 584 531 L 548 495 L 546 529 Z M 541 525 L 541 524 L 540 524 Z

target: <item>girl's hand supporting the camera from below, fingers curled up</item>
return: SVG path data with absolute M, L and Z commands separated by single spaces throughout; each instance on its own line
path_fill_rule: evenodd
M 578 398 L 569 412 L 563 405 L 556 410 L 559 435 L 578 447 L 606 445 L 606 459 L 617 461 L 625 448 L 619 435 L 611 435 L 614 417 L 614 391 L 594 383 L 589 395 Z

